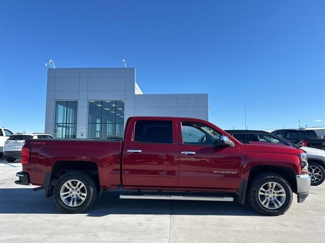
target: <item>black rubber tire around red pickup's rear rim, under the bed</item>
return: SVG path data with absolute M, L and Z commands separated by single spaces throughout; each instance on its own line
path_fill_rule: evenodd
M 83 203 L 81 203 L 79 206 L 70 207 L 66 205 L 61 199 L 61 188 L 64 185 L 64 183 L 70 180 L 81 181 L 86 188 L 86 196 L 84 197 L 85 199 Z M 98 197 L 99 190 L 98 190 L 98 186 L 96 186 L 95 181 L 89 174 L 77 171 L 77 172 L 69 172 L 62 175 L 58 179 L 54 187 L 53 194 L 54 194 L 55 204 L 61 211 L 63 211 L 64 213 L 77 214 L 86 211 L 94 203 L 94 201 Z M 72 198 L 70 197 L 70 199 Z

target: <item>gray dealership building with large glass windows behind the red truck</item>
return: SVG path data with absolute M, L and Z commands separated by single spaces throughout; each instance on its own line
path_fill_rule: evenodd
M 135 68 L 48 69 L 46 133 L 56 138 L 122 137 L 130 116 L 208 120 L 208 94 L 143 94 Z

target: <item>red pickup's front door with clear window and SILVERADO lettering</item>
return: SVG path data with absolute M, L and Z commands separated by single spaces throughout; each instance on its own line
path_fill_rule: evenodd
M 180 188 L 238 189 L 241 156 L 238 145 L 218 146 L 221 133 L 202 121 L 178 120 Z

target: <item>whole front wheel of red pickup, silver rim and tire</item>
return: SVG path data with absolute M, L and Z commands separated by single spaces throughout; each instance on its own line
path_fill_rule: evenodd
M 275 173 L 263 173 L 253 179 L 248 188 L 249 204 L 258 213 L 278 216 L 284 214 L 293 201 L 289 183 Z

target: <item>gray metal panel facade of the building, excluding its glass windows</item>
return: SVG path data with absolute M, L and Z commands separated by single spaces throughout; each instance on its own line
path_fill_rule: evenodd
M 125 100 L 130 116 L 208 119 L 208 94 L 135 94 L 135 68 L 48 69 L 45 132 L 54 134 L 56 100 L 78 101 L 77 137 L 87 137 L 88 100 Z

